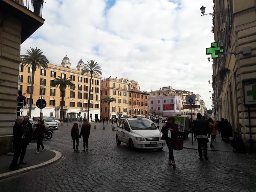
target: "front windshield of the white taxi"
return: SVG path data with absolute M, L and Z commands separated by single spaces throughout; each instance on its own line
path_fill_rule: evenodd
M 136 119 L 129 121 L 132 130 L 148 130 L 148 129 L 157 129 L 154 122 L 148 119 Z

